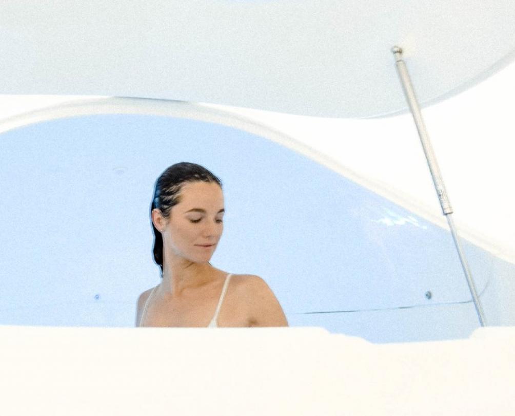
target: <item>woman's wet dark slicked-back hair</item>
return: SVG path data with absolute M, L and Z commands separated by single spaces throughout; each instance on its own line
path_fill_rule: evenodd
M 163 277 L 163 237 L 152 222 L 152 210 L 158 208 L 163 217 L 170 215 L 170 209 L 180 201 L 180 191 L 186 182 L 214 182 L 222 187 L 221 180 L 212 172 L 195 163 L 180 162 L 167 168 L 156 180 L 154 195 L 150 206 L 150 223 L 154 233 L 154 261 L 161 268 Z

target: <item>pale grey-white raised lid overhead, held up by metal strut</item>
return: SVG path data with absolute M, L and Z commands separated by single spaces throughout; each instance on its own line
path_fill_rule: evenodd
M 322 117 L 404 111 L 513 58 L 511 0 L 5 1 L 0 93 L 209 102 Z

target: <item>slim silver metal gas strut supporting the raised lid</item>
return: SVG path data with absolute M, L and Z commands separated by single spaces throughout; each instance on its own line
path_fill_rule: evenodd
M 447 218 L 447 222 L 449 223 L 449 227 L 451 228 L 451 234 L 454 239 L 454 244 L 456 245 L 456 249 L 458 251 L 459 260 L 461 261 L 461 267 L 465 273 L 465 277 L 467 278 L 467 283 L 469 284 L 470 293 L 472 294 L 472 299 L 474 301 L 474 306 L 476 308 L 479 322 L 480 322 L 481 326 L 486 326 L 483 308 L 481 307 L 481 303 L 479 302 L 479 298 L 477 297 L 476 288 L 474 286 L 474 281 L 472 280 L 472 275 L 470 273 L 469 265 L 467 264 L 467 259 L 465 258 L 465 255 L 461 249 L 461 245 L 459 243 L 459 238 L 458 238 L 458 233 L 456 231 L 456 227 L 454 226 L 454 222 L 452 220 L 453 210 L 451 207 L 451 203 L 449 202 L 449 197 L 447 196 L 447 191 L 445 191 L 445 186 L 443 184 L 443 179 L 440 174 L 440 169 L 438 168 L 438 163 L 436 161 L 436 157 L 433 152 L 433 147 L 431 146 L 431 142 L 429 140 L 429 136 L 427 135 L 424 121 L 422 120 L 422 114 L 420 112 L 420 107 L 417 102 L 417 97 L 415 96 L 415 91 L 413 89 L 413 86 L 411 85 L 411 80 L 409 79 L 409 74 L 408 74 L 408 70 L 406 68 L 406 64 L 404 63 L 404 61 L 402 59 L 402 49 L 398 46 L 394 46 L 391 48 L 391 52 L 393 53 L 393 56 L 395 57 L 397 73 L 399 74 L 399 78 L 401 79 L 402 87 L 404 90 L 404 95 L 406 96 L 406 101 L 409 104 L 411 114 L 413 114 L 413 119 L 415 120 L 415 124 L 417 125 L 420 142 L 422 143 L 422 148 L 424 149 L 425 158 L 427 160 L 429 170 L 431 171 L 431 176 L 433 177 L 433 182 L 435 184 L 436 193 L 438 195 L 438 199 L 440 200 L 440 206 L 442 207 L 443 214 Z

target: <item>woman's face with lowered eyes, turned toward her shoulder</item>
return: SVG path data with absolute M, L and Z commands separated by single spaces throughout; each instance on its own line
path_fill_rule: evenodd
M 164 250 L 196 263 L 211 259 L 224 230 L 224 195 L 213 182 L 186 182 L 162 231 Z

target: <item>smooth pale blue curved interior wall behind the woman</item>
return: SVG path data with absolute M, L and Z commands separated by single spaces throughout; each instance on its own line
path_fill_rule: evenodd
M 262 137 L 148 115 L 0 136 L 0 324 L 133 326 L 138 295 L 159 282 L 153 184 L 180 161 L 223 182 L 212 264 L 263 277 L 291 325 L 376 342 L 467 337 L 478 326 L 447 230 Z M 465 248 L 483 294 L 495 259 Z

